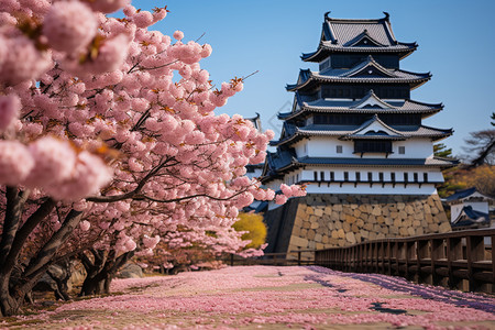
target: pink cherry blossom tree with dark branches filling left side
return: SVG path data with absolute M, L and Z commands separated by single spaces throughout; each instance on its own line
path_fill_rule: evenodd
M 86 293 L 101 292 L 134 252 L 180 240 L 167 233 L 204 242 L 215 232 L 216 249 L 238 251 L 239 208 L 305 194 L 275 196 L 244 176 L 273 132 L 215 113 L 243 78 L 213 86 L 199 65 L 210 45 L 148 30 L 166 8 L 1 3 L 1 316 L 57 260 L 78 254 L 96 274 Z M 106 15 L 120 8 L 123 19 Z

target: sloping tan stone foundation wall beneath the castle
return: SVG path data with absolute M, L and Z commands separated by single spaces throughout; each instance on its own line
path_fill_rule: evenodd
M 266 212 L 265 221 L 272 245 L 266 252 L 345 246 L 451 230 L 438 195 L 314 194 L 289 199 Z

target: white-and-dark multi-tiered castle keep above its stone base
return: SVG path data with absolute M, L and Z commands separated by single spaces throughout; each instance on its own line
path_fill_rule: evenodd
M 263 182 L 307 184 L 318 194 L 436 194 L 442 167 L 452 161 L 433 156 L 433 142 L 452 134 L 421 121 L 441 103 L 410 99 L 429 73 L 399 68 L 416 43 L 398 42 L 389 15 L 341 20 L 324 15 L 318 50 L 302 54 L 319 72 L 301 69 L 280 138 L 272 141 Z

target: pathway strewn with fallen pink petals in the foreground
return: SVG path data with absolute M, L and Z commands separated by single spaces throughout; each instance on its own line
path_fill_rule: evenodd
M 317 266 L 117 279 L 112 292 L 8 319 L 0 329 L 495 329 L 488 296 Z

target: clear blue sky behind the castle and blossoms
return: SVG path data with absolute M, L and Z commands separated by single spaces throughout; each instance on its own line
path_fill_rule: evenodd
M 167 6 L 163 22 L 151 26 L 172 35 L 185 33 L 213 47 L 201 66 L 217 85 L 238 76 L 246 79 L 244 90 L 229 100 L 218 113 L 261 113 L 264 129 L 277 132 L 278 111 L 288 111 L 293 94 L 286 84 L 296 81 L 299 68 L 317 69 L 300 61 L 301 53 L 317 48 L 323 13 L 341 19 L 378 19 L 391 14 L 395 36 L 400 42 L 417 42 L 419 47 L 400 62 L 406 70 L 431 72 L 432 79 L 411 92 L 411 99 L 446 107 L 424 123 L 453 128 L 454 134 L 442 141 L 463 153 L 470 132 L 491 129 L 495 111 L 495 1 L 375 0 L 375 1 L 144 1 L 136 8 L 150 10 Z

